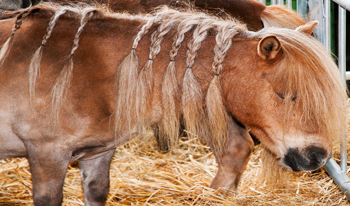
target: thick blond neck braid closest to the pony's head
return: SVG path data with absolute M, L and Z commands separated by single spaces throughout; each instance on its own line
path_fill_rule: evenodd
M 218 28 L 216 34 L 216 45 L 214 47 L 214 61 L 212 71 L 214 77 L 209 84 L 206 97 L 207 118 L 214 152 L 222 154 L 223 145 L 227 143 L 227 111 L 223 100 L 223 91 L 221 90 L 220 72 L 223 70 L 223 60 L 228 49 L 232 45 L 232 38 L 241 34 L 244 27 L 224 25 Z

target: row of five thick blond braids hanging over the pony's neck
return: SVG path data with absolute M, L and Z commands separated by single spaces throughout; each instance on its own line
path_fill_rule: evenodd
M 156 30 L 151 35 L 149 60 L 138 73 L 138 57 L 136 55 L 138 42 L 152 26 L 156 26 Z M 154 86 L 152 64 L 161 50 L 163 36 L 170 30 L 175 30 L 175 34 L 172 48 L 169 51 L 169 64 L 165 69 L 161 87 L 163 115 L 159 122 L 160 137 L 165 138 L 164 142 L 169 143 L 169 146 L 176 144 L 181 115 L 178 111 L 182 111 L 189 136 L 210 137 L 214 150 L 220 152 L 227 139 L 227 111 L 220 85 L 220 72 L 223 69 L 221 64 L 231 46 L 231 39 L 240 36 L 246 29 L 245 25 L 233 19 L 223 21 L 223 19 L 207 16 L 200 12 L 163 8 L 151 17 L 138 32 L 130 54 L 125 57 L 118 69 L 117 88 L 127 89 L 116 91 L 118 93 L 116 117 L 119 117 L 116 118 L 116 130 L 143 122 L 150 116 L 150 100 Z M 187 43 L 187 68 L 182 82 L 177 82 L 176 56 L 187 32 L 192 32 L 192 37 Z M 216 35 L 216 45 L 212 63 L 213 78 L 206 92 L 207 97 L 203 100 L 205 91 L 202 91 L 198 80 L 192 73 L 192 65 L 194 65 L 201 43 L 205 41 L 209 32 Z M 178 88 L 180 84 L 182 84 L 182 93 Z M 134 95 L 135 93 L 136 95 Z M 178 98 L 182 102 L 181 108 L 178 108 L 176 104 Z M 136 117 L 136 121 L 134 117 Z

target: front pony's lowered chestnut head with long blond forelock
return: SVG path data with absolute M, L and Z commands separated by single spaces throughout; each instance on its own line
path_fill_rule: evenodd
M 344 80 L 324 47 L 309 37 L 316 24 L 251 34 L 256 41 L 239 49 L 254 52 L 234 52 L 245 63 L 229 62 L 223 75 L 229 112 L 294 171 L 325 164 L 332 138 L 344 135 L 346 126 Z

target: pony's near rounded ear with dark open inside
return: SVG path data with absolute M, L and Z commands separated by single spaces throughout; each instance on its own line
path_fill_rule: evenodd
M 280 41 L 275 35 L 265 36 L 258 44 L 258 55 L 263 59 L 271 60 L 276 58 L 280 48 Z

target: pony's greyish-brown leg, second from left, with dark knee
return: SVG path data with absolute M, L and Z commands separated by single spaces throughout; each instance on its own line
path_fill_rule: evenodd
M 110 163 L 114 149 L 95 159 L 79 159 L 85 205 L 105 205 L 110 189 Z

